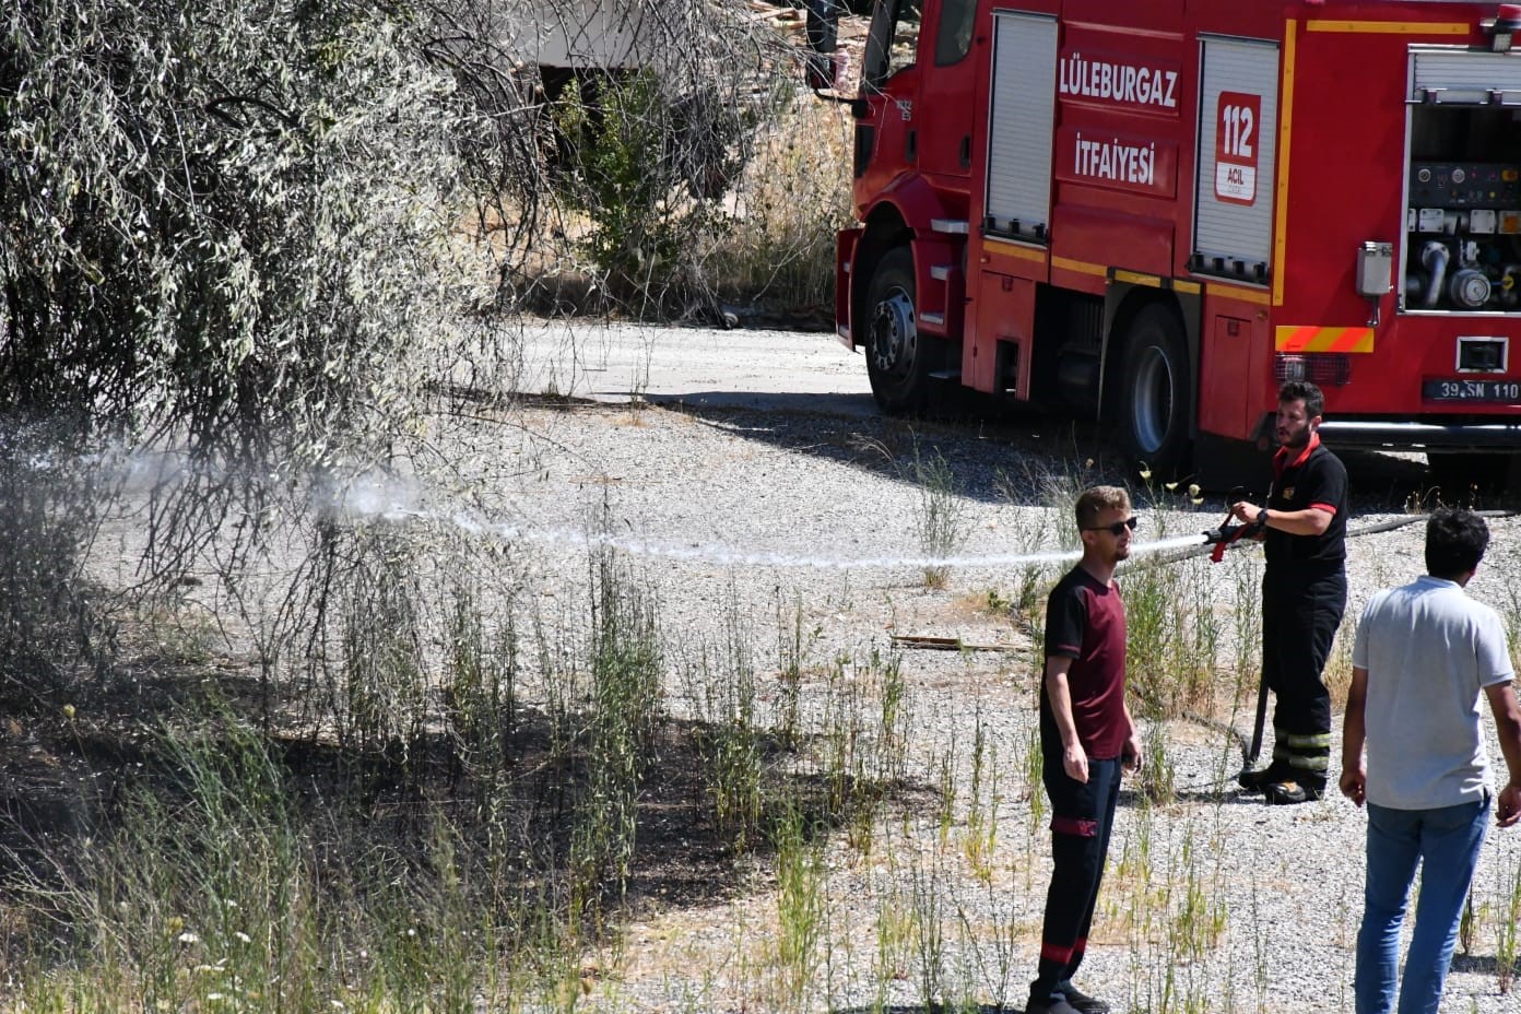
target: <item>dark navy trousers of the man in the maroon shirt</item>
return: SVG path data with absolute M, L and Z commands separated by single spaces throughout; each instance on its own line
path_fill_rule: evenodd
M 1040 930 L 1040 964 L 1030 996 L 1062 993 L 1083 962 L 1104 876 L 1109 832 L 1119 801 L 1119 759 L 1088 760 L 1088 781 L 1066 777 L 1062 756 L 1045 754 L 1043 781 L 1051 797 L 1051 889 Z

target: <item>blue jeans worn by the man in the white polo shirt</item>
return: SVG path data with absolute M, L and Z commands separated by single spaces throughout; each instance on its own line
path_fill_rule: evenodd
M 1437 1014 L 1457 944 L 1468 885 L 1489 827 L 1483 801 L 1433 810 L 1367 804 L 1367 888 L 1357 933 L 1357 1014 L 1393 1014 L 1399 979 L 1399 924 L 1421 863 L 1421 900 L 1405 955 L 1399 1014 Z

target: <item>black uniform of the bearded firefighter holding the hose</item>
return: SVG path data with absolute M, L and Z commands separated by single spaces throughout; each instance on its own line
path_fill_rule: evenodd
M 1322 680 L 1346 611 L 1346 468 L 1311 433 L 1302 450 L 1273 458 L 1267 511 L 1316 508 L 1331 514 L 1320 535 L 1267 529 L 1262 575 L 1262 680 L 1273 692 L 1273 762 L 1261 778 L 1270 801 L 1297 783 L 1308 798 L 1325 792 L 1331 760 L 1331 693 Z

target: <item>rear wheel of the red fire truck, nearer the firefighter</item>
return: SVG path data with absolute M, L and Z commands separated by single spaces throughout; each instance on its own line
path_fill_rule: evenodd
M 1159 479 L 1186 473 L 1192 380 L 1183 322 L 1171 307 L 1153 303 L 1126 331 L 1119 372 L 1119 438 L 1136 467 Z

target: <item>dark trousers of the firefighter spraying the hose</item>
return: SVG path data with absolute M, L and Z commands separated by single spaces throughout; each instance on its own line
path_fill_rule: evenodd
M 1331 692 L 1322 672 L 1346 611 L 1342 564 L 1270 562 L 1262 576 L 1262 678 L 1273 692 L 1273 766 L 1325 789 Z

